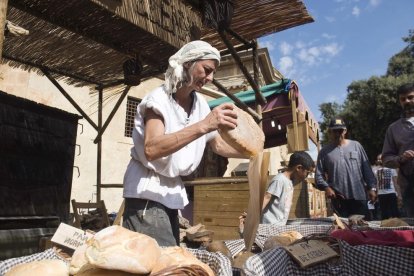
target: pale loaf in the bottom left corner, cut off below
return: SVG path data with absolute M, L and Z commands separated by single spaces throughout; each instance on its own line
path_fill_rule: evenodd
M 68 265 L 61 260 L 40 260 L 18 264 L 5 276 L 69 276 Z

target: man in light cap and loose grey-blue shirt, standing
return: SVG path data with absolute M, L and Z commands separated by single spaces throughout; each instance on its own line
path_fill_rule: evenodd
M 346 131 L 341 118 L 330 121 L 330 144 L 318 154 L 316 186 L 325 191 L 339 216 L 360 214 L 368 218 L 367 192 L 374 202 L 376 179 L 365 150 L 359 142 L 345 139 Z

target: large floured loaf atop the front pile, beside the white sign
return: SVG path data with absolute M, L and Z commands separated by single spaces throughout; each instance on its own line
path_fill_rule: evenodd
M 161 255 L 155 239 L 115 225 L 99 231 L 87 243 L 88 263 L 109 270 L 150 273 Z

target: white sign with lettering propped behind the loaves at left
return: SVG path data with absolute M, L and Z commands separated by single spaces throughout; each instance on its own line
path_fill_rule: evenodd
M 61 223 L 52 237 L 52 242 L 75 250 L 91 237 L 93 237 L 91 233 Z

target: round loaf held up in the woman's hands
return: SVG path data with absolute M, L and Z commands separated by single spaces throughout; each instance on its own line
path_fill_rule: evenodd
M 238 107 L 237 127 L 220 128 L 219 133 L 224 141 L 246 157 L 252 157 L 263 151 L 265 135 L 252 116 Z

